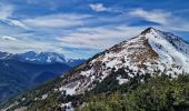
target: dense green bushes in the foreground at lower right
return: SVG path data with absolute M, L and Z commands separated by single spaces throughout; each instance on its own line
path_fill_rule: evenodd
M 80 111 L 189 111 L 189 75 L 151 78 L 126 93 L 91 95 Z

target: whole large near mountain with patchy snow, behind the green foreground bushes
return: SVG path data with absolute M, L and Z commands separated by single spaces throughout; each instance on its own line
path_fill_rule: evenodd
M 187 74 L 188 68 L 189 43 L 172 33 L 148 28 L 93 56 L 67 74 L 13 99 L 4 108 L 72 109 L 84 105 L 83 99 L 90 93 L 129 91 L 151 77 L 166 74 L 173 79 Z

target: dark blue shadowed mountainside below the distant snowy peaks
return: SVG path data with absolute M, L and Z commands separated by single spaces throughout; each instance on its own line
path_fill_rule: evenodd
M 0 60 L 0 103 L 70 69 L 63 63 L 33 64 L 12 59 Z

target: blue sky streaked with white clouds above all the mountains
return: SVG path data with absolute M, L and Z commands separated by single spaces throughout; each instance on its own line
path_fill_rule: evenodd
M 188 0 L 1 0 L 0 50 L 89 58 L 148 27 L 189 41 Z

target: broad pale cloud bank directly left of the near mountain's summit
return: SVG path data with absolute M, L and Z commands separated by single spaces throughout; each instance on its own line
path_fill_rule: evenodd
M 103 50 L 138 34 L 142 28 L 117 26 L 115 28 L 81 28 L 66 37 L 58 37 L 62 46 Z

